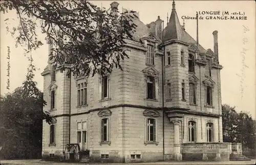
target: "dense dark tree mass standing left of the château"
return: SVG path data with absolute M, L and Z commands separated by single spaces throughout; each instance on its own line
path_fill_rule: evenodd
M 42 93 L 26 97 L 23 88 L 1 96 L 1 158 L 38 158 L 42 138 Z M 39 154 L 38 154 L 39 153 Z

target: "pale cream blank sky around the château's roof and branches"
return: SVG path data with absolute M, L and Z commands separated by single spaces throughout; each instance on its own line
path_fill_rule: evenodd
M 91 1 L 98 7 L 110 8 L 113 1 Z M 173 1 L 116 1 L 119 3 L 119 11 L 122 8 L 139 12 L 139 18 L 144 24 L 157 20 L 160 16 L 166 25 L 168 17 L 172 12 Z M 212 32 L 218 31 L 219 62 L 224 67 L 221 70 L 221 93 L 222 103 L 236 106 L 236 110 L 246 111 L 256 119 L 256 73 L 255 73 L 255 2 L 254 1 L 176 1 L 176 11 L 183 24 L 182 16 L 199 17 L 199 43 L 205 48 L 214 50 Z M 229 12 L 228 17 L 240 12 L 244 20 L 209 20 L 202 15 L 204 11 Z M 245 20 L 246 17 L 246 20 Z M 9 21 L 9 26 L 17 25 L 15 12 L 1 13 L 1 94 L 12 92 L 15 88 L 22 86 L 27 73 L 29 61 L 24 56 L 24 47 L 15 47 L 15 41 L 6 32 L 6 18 L 14 18 Z M 196 39 L 196 20 L 185 19 L 185 30 Z M 47 66 L 48 45 L 44 41 L 45 36 L 38 29 L 38 37 L 41 38 L 43 46 L 31 53 L 34 64 L 35 80 L 38 88 L 43 90 L 43 77 L 40 73 Z M 9 59 L 8 59 L 9 58 Z M 9 63 L 8 63 L 9 62 Z M 9 67 L 9 72 L 8 72 Z M 9 80 L 8 80 L 9 79 Z M 7 89 L 7 87 L 9 89 Z

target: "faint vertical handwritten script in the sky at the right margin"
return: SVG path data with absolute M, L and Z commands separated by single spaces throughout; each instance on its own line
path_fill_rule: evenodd
M 241 74 L 237 74 L 240 77 L 240 88 L 241 88 L 241 100 L 243 99 L 243 94 L 244 94 L 244 78 L 245 78 L 245 69 L 249 68 L 246 64 L 245 64 L 245 56 L 246 56 L 246 51 L 248 50 L 247 48 L 247 42 L 248 39 L 246 38 L 246 34 L 249 31 L 249 28 L 245 25 L 243 25 L 243 39 L 242 39 L 242 43 L 243 43 L 243 47 L 242 47 L 242 51 L 240 52 L 240 55 L 242 57 L 242 69 L 241 69 Z

